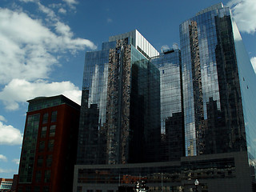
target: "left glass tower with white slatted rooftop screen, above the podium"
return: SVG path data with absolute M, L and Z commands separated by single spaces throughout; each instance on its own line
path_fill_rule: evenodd
M 137 30 L 86 53 L 78 165 L 158 161 L 160 78 L 149 61 L 156 55 Z

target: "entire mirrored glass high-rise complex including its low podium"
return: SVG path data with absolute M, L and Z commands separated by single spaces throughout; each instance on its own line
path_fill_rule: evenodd
M 180 51 L 150 55 L 135 34 L 86 53 L 73 191 L 128 191 L 142 181 L 149 191 L 256 191 L 256 76 L 230 8 L 219 3 L 182 22 Z

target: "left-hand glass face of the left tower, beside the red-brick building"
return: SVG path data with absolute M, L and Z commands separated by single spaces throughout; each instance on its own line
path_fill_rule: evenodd
M 106 92 L 110 48 L 115 42 L 103 43 L 101 51 L 86 52 L 82 84 L 82 102 L 78 134 L 78 164 L 106 162 Z

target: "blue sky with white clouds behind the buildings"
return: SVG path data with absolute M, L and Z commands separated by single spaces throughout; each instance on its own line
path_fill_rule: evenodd
M 256 3 L 225 0 L 256 66 Z M 64 94 L 80 103 L 86 51 L 137 29 L 157 50 L 179 45 L 179 24 L 214 0 L 1 0 L 0 178 L 18 174 L 27 100 Z M 256 67 L 255 67 L 256 69 Z

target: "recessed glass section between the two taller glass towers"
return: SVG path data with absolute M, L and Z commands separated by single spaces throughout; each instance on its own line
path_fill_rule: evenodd
M 180 50 L 166 50 L 151 62 L 160 72 L 161 161 L 179 160 L 185 152 Z

